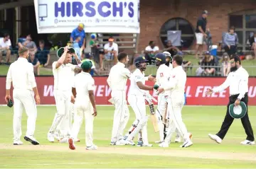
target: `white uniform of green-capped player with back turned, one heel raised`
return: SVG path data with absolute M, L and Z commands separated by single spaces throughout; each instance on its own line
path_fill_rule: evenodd
M 75 98 L 75 116 L 72 128 L 71 138 L 76 139 L 82 124 L 83 116 L 85 116 L 85 142 L 86 146 L 92 146 L 93 143 L 93 107 L 89 98 L 89 91 L 95 90 L 95 81 L 88 73 L 81 72 L 75 76 L 73 88 L 77 93 Z

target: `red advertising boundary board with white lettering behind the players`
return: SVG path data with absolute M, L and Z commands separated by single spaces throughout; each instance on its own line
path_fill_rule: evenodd
M 221 93 L 206 95 L 208 88 L 219 86 L 225 81 L 222 77 L 188 77 L 186 82 L 186 105 L 227 105 L 229 90 Z M 53 76 L 36 77 L 38 92 L 41 96 L 42 105 L 54 105 L 53 97 Z M 6 104 L 4 96 L 6 94 L 6 77 L 0 77 L 2 90 L 0 91 L 0 104 Z M 153 85 L 151 81 L 146 84 Z M 129 92 L 129 80 L 127 81 L 127 93 Z M 111 98 L 111 90 L 107 86 L 107 77 L 95 77 L 95 100 L 97 105 L 110 105 L 108 100 Z M 151 95 L 157 98 L 156 92 L 151 91 Z M 249 105 L 256 105 L 256 78 L 249 78 Z

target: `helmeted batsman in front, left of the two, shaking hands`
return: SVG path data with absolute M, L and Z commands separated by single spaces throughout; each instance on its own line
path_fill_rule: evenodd
M 154 86 L 146 86 L 145 81 L 156 81 L 151 75 L 145 77 L 144 71 L 146 70 L 146 59 L 145 57 L 137 57 L 134 60 L 134 64 L 137 69 L 132 74 L 131 86 L 129 88 L 128 102 L 134 110 L 136 119 L 139 120 L 137 127 L 129 134 L 126 140 L 126 144 L 134 146 L 134 141 L 132 139 L 136 136 L 142 129 L 142 146 L 152 146 L 149 144 L 146 125 L 148 121 L 148 116 L 146 115 L 146 105 L 145 105 L 145 94 L 146 91 L 153 91 Z

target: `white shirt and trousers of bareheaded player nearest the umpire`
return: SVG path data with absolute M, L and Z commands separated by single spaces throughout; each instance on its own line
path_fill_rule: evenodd
M 176 66 L 171 71 L 169 82 L 164 85 L 164 91 L 171 91 L 168 98 L 168 110 L 170 113 L 169 129 L 166 138 L 178 129 L 183 139 L 189 139 L 186 125 L 182 121 L 181 110 L 185 102 L 184 91 L 186 85 L 186 72 L 182 66 Z

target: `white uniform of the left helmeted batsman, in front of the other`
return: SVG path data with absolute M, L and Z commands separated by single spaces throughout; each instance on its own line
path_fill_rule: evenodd
M 145 77 L 144 72 L 136 69 L 130 78 L 131 85 L 128 95 L 129 105 L 131 105 L 132 110 L 134 110 L 136 119 L 139 120 L 139 124 L 137 124 L 134 131 L 128 136 L 128 140 L 132 140 L 132 138 L 142 129 L 142 140 L 143 144 L 145 145 L 149 144 L 146 130 L 148 117 L 146 116 L 146 104 L 144 96 L 147 91 L 140 89 L 137 82 L 142 82 L 142 84 L 145 84 L 145 81 L 147 80 L 148 77 Z

